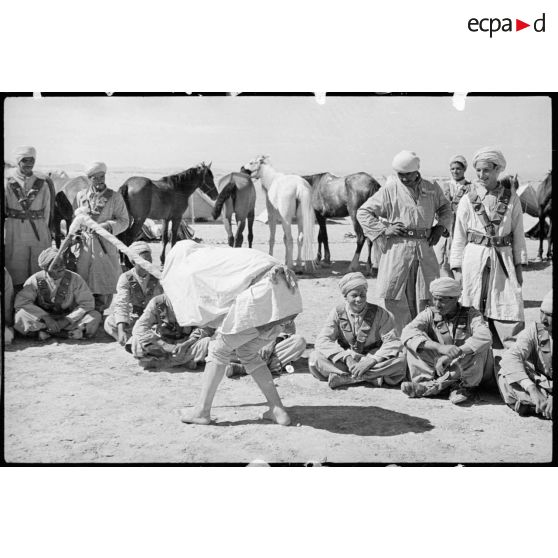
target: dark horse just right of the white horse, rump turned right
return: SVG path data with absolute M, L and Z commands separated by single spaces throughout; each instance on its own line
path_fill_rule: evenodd
M 326 221 L 328 217 L 351 217 L 355 230 L 357 247 L 348 272 L 358 271 L 360 267 L 360 253 L 364 241 L 368 242 L 368 259 L 366 272 L 372 271 L 371 253 L 372 242 L 366 239 L 360 223 L 357 221 L 358 208 L 380 189 L 380 184 L 366 172 L 356 172 L 348 176 L 335 176 L 329 172 L 303 176 L 312 186 L 312 206 L 320 230 L 318 232 L 318 254 L 316 262 L 322 259 L 322 244 L 324 246 L 323 265 L 331 265 Z

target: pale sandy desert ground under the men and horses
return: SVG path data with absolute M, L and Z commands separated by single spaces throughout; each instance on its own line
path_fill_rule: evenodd
M 224 244 L 220 224 L 195 224 L 204 242 Z M 328 310 L 340 300 L 337 281 L 354 251 L 347 222 L 331 224 L 334 264 L 299 280 L 297 318 L 307 351 L 295 373 L 275 380 L 293 419 L 285 428 L 259 420 L 264 400 L 249 377 L 225 378 L 211 426 L 180 422 L 193 405 L 202 373 L 144 371 L 101 329 L 88 341 L 16 338 L 5 351 L 4 458 L 11 463 L 540 463 L 552 459 L 552 423 L 521 418 L 496 392 L 474 404 L 408 399 L 399 389 L 332 391 L 306 369 L 306 356 Z M 256 222 L 254 248 L 267 251 L 267 227 Z M 280 235 L 282 236 L 282 235 Z M 284 257 L 278 232 L 276 256 Z M 537 245 L 527 241 L 529 257 Z M 158 243 L 154 254 L 160 253 Z M 364 259 L 364 258 L 362 258 Z M 550 263 L 524 272 L 527 321 L 552 285 Z M 375 279 L 369 280 L 374 300 Z

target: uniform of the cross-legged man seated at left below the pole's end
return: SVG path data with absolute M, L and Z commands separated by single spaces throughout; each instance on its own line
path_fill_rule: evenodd
M 66 270 L 65 274 L 70 274 L 71 280 L 68 285 L 67 293 L 62 301 L 60 308 L 62 314 L 70 320 L 69 325 L 64 329 L 71 331 L 83 329 L 88 336 L 93 335 L 101 323 L 101 315 L 94 310 L 95 303 L 93 295 L 85 281 L 72 271 Z M 50 292 L 50 300 L 55 301 L 58 288 L 62 282 L 62 277 L 54 281 L 46 271 L 39 271 L 33 274 L 23 286 L 23 289 L 15 298 L 15 329 L 23 334 L 29 334 L 46 328 L 42 321 L 45 316 L 52 315 L 52 309 L 43 308 L 39 291 L 38 280 L 44 279 Z

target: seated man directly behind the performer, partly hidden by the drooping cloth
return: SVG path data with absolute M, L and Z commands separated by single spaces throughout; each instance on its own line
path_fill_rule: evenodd
M 145 368 L 186 366 L 205 361 L 211 328 L 178 325 L 171 301 L 157 295 L 147 304 L 132 329 L 131 352 Z

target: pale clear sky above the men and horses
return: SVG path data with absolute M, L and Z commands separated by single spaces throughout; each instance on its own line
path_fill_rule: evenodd
M 230 172 L 271 156 L 282 172 L 391 172 L 402 149 L 421 158 L 425 176 L 448 174 L 449 159 L 468 160 L 494 145 L 506 173 L 542 179 L 551 168 L 548 97 L 8 97 L 5 158 L 18 145 L 37 148 L 38 168 L 102 160 L 109 168 L 182 170 L 200 161 Z M 472 177 L 472 169 L 467 175 Z

